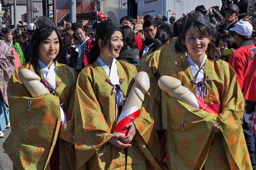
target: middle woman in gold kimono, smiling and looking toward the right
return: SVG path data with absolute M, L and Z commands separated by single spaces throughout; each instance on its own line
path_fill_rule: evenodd
M 90 64 L 78 77 L 75 105 L 67 123 L 72 136 L 78 169 L 160 169 L 161 150 L 153 143 L 153 118 L 144 107 L 125 128 L 127 135 L 114 135 L 116 121 L 137 74 L 134 65 L 118 61 L 122 33 L 112 12 L 96 30 Z M 116 109 L 116 105 L 118 109 Z M 71 140 L 71 139 L 70 139 Z M 155 145 L 155 146 L 154 146 Z M 151 149 L 155 147 L 155 150 Z

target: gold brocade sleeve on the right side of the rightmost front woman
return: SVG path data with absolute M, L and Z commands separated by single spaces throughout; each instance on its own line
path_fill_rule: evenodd
M 224 70 L 225 86 L 222 101 L 222 112 L 218 116 L 217 124 L 221 129 L 221 133 L 225 138 L 225 149 L 229 159 L 234 159 L 233 169 L 251 169 L 249 155 L 244 152 L 247 147 L 244 141 L 244 133 L 242 129 L 242 117 L 244 114 L 244 97 L 238 84 L 235 71 L 228 64 L 228 70 Z

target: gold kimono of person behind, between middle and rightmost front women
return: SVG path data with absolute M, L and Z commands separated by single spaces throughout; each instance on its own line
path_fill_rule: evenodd
M 157 130 L 163 131 L 162 128 L 162 116 L 161 116 L 161 103 L 156 98 L 159 94 L 159 87 L 158 87 L 158 63 L 159 63 L 159 54 L 161 50 L 156 51 L 148 51 L 145 55 L 142 56 L 140 59 L 138 70 L 145 71 L 149 75 L 150 80 L 150 89 L 149 89 L 149 100 L 148 106 L 151 109 L 150 114 L 151 117 L 154 118 L 154 124 Z

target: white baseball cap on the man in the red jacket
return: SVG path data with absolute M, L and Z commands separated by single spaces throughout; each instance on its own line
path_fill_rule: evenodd
M 231 28 L 230 31 L 235 31 L 236 33 L 243 36 L 251 36 L 252 35 L 252 24 L 248 21 L 238 21 L 234 28 Z

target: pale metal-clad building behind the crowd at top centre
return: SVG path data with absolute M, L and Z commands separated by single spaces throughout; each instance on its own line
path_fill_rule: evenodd
M 204 5 L 206 9 L 212 6 L 221 8 L 221 0 L 99 0 L 101 11 L 112 11 L 117 19 L 129 15 L 138 16 L 164 15 L 167 18 L 176 13 L 176 18 L 193 11 L 196 6 Z

